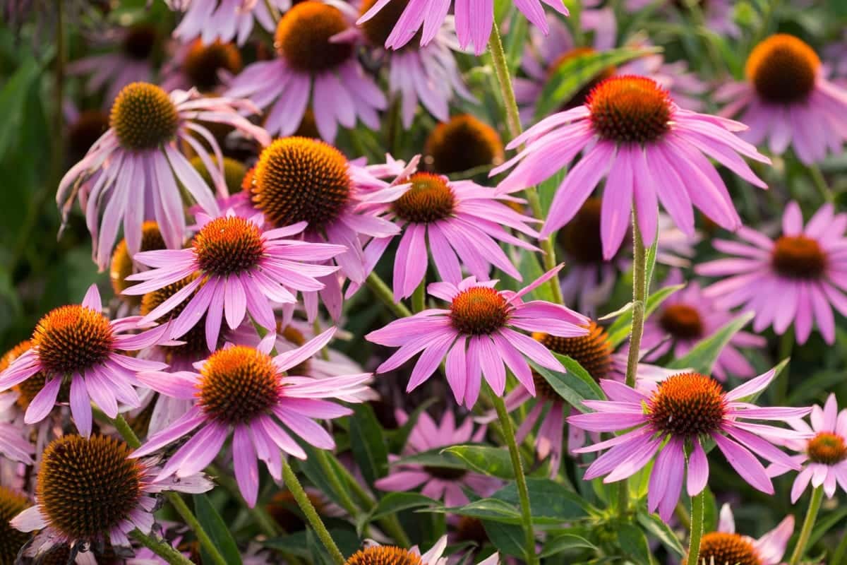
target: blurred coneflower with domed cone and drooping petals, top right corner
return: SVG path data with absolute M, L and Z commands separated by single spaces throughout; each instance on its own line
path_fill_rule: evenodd
M 839 153 L 847 139 L 847 91 L 824 76 L 817 53 L 787 34 L 768 37 L 747 59 L 747 80 L 715 93 L 721 114 L 750 126 L 742 136 L 758 145 L 766 138 L 780 155 L 791 145 L 805 164 Z

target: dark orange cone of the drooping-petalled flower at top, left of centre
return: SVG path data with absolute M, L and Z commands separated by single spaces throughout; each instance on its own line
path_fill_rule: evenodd
M 319 73 L 334 69 L 353 53 L 352 44 L 329 38 L 348 27 L 338 8 L 314 0 L 296 4 L 280 19 L 274 47 L 291 68 Z

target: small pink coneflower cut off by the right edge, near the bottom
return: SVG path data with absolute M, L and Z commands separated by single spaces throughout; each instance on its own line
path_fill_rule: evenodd
M 784 443 L 799 455 L 791 457 L 803 470 L 791 487 L 791 503 L 798 501 L 811 482 L 812 488 L 823 486 L 829 498 L 835 496 L 838 485 L 847 492 L 847 409 L 839 412 L 838 401 L 830 394 L 823 407 L 811 407 L 811 426 L 805 420 L 789 420 L 797 431 L 811 435 L 809 440 L 789 440 Z M 788 467 L 773 464 L 767 474 L 778 477 L 789 472 Z

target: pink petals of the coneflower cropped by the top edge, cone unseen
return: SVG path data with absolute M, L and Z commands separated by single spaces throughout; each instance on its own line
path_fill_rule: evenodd
M 565 5 L 556 0 L 515 0 L 514 4 L 526 19 L 547 33 L 548 26 L 542 2 L 559 14 L 567 15 Z M 481 55 L 488 45 L 488 38 L 494 26 L 494 0 L 483 0 L 480 3 L 470 3 L 468 0 L 377 0 L 356 23 L 363 25 L 390 6 L 392 13 L 401 14 L 385 39 L 385 47 L 399 50 L 412 40 L 418 41 L 418 36 L 420 45 L 425 46 L 435 38 L 451 4 L 456 17 L 459 45 L 465 49 L 473 44 L 473 53 Z

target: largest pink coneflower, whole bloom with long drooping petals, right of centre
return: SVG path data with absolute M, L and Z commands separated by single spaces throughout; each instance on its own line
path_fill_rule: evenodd
M 553 198 L 541 236 L 550 235 L 579 212 L 595 186 L 606 177 L 601 212 L 603 257 L 620 247 L 633 206 L 645 245 L 656 234 L 657 200 L 686 235 L 695 234 L 692 205 L 728 230 L 741 225 L 727 187 L 708 158 L 743 179 L 765 184 L 739 157 L 770 160 L 733 131 L 745 125 L 679 108 L 655 80 L 613 76 L 591 91 L 584 106 L 553 114 L 507 146 L 523 151 L 491 174 L 512 172 L 500 190 L 539 184 L 573 161 Z

